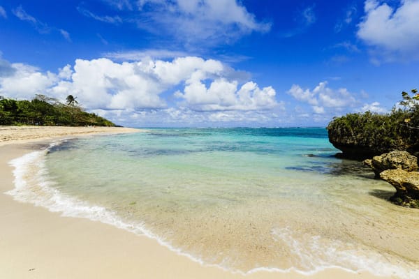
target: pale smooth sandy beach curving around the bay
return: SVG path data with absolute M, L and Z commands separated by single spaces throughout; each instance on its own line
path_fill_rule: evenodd
M 62 217 L 3 194 L 14 187 L 8 162 L 43 148 L 51 139 L 133 131 L 138 130 L 0 126 L 0 278 L 378 278 L 340 269 L 311 276 L 292 271 L 234 274 L 192 262 L 146 236 Z

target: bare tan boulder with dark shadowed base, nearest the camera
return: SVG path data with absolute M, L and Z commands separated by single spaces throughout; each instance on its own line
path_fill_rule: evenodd
M 396 188 L 396 193 L 390 197 L 390 201 L 402 206 L 419 208 L 419 172 L 388 169 L 381 172 L 380 177 Z

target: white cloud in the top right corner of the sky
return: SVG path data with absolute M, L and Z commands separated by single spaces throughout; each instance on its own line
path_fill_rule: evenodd
M 374 47 L 374 55 L 391 61 L 419 59 L 419 1 L 402 0 L 397 8 L 376 0 L 365 1 L 365 17 L 358 37 Z M 379 54 L 381 53 L 381 54 Z

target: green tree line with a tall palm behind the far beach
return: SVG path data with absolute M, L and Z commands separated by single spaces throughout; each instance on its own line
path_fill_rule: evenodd
M 64 104 L 41 94 L 32 100 L 0 96 L 0 125 L 115 126 L 108 119 L 85 112 L 76 98 L 68 95 Z

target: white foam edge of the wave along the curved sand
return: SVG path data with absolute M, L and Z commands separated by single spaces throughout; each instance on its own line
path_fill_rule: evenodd
M 193 262 L 197 262 L 202 266 L 207 267 L 217 267 L 224 271 L 228 271 L 231 273 L 240 273 L 242 275 L 247 275 L 251 273 L 257 272 L 270 272 L 270 273 L 300 273 L 304 276 L 311 276 L 321 271 L 326 271 L 328 269 L 338 269 L 341 271 L 345 271 L 348 273 L 360 273 L 360 272 L 369 272 L 376 276 L 395 276 L 394 270 L 390 269 L 387 270 L 389 272 L 383 272 L 371 269 L 371 266 L 362 266 L 362 268 L 357 270 L 347 269 L 343 266 L 337 266 L 332 264 L 322 264 L 321 266 L 316 266 L 316 268 L 310 271 L 304 271 L 297 269 L 295 267 L 291 267 L 288 269 L 279 269 L 277 267 L 257 267 L 251 269 L 249 271 L 240 271 L 237 269 L 229 269 L 225 266 L 221 266 L 219 264 L 208 264 L 198 257 L 190 255 L 187 252 L 184 252 L 180 248 L 175 248 L 165 241 L 161 239 L 156 234 L 150 232 L 148 229 L 145 229 L 143 223 L 126 223 L 124 220 L 121 220 L 117 216 L 116 213 L 105 209 L 102 206 L 96 206 L 89 204 L 87 202 L 83 202 L 80 199 L 76 199 L 74 197 L 69 197 L 64 193 L 61 193 L 56 188 L 53 188 L 54 185 L 53 181 L 48 179 L 47 169 L 45 167 L 45 159 L 47 152 L 53 147 L 61 144 L 65 140 L 61 140 L 59 142 L 52 142 L 47 149 L 41 151 L 32 151 L 31 153 L 27 153 L 24 156 L 19 158 L 15 158 L 10 160 L 9 165 L 14 167 L 13 175 L 15 176 L 14 185 L 15 188 L 12 190 L 7 191 L 5 194 L 10 195 L 18 202 L 25 202 L 34 204 L 34 206 L 42 206 L 48 209 L 51 212 L 61 212 L 61 216 L 64 217 L 73 217 L 73 218 L 87 218 L 93 221 L 99 221 L 104 224 L 112 225 L 119 229 L 125 229 L 128 232 L 132 232 L 137 235 L 147 236 L 149 239 L 154 239 L 159 243 L 159 245 L 164 246 L 175 252 L 177 255 L 187 257 L 191 259 Z M 36 174 L 33 177 L 33 180 L 36 181 L 36 186 L 41 188 L 45 195 L 38 195 L 34 189 L 33 185 L 30 185 L 28 181 L 25 179 L 25 175 L 29 172 L 29 170 L 34 168 L 36 165 Z M 46 197 L 47 196 L 47 197 Z M 362 260 L 362 259 L 360 259 Z M 383 266 L 381 266 L 383 268 Z M 410 277 L 408 274 L 404 274 L 403 278 L 417 278 L 417 277 Z M 412 274 L 412 276 L 417 276 L 418 274 Z

